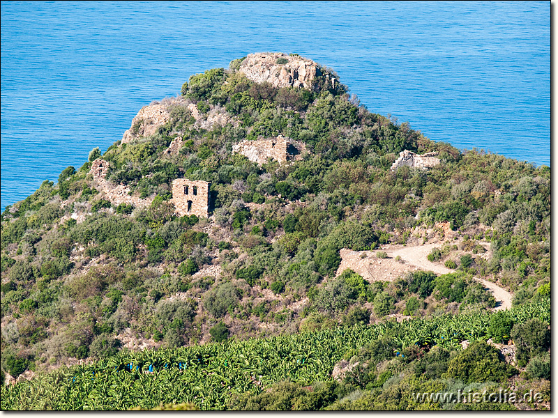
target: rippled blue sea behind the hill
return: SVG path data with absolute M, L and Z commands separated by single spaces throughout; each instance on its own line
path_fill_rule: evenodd
M 333 68 L 430 139 L 550 166 L 550 1 L 1 2 L 1 210 L 250 52 Z

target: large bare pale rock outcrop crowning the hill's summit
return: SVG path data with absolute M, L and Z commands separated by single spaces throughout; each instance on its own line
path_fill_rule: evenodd
M 268 82 L 274 87 L 312 89 L 314 79 L 322 75 L 319 64 L 302 56 L 263 52 L 248 54 L 239 68 L 252 82 Z M 326 77 L 330 77 L 326 74 Z M 335 78 L 331 77 L 332 87 Z

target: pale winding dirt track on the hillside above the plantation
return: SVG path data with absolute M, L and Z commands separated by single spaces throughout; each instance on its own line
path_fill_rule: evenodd
M 436 274 L 447 274 L 453 272 L 453 270 L 444 267 L 444 265 L 439 265 L 438 263 L 432 263 L 428 261 L 428 254 L 432 251 L 432 248 L 439 247 L 439 244 L 427 244 L 418 247 L 402 247 L 398 249 L 386 249 L 386 254 L 388 256 L 395 258 L 400 256 L 403 261 L 414 265 L 415 267 L 421 268 L 423 270 L 430 270 Z M 481 283 L 485 288 L 494 295 L 496 299 L 495 311 L 500 309 L 510 309 L 511 308 L 511 298 L 512 295 L 505 289 L 501 288 L 492 281 L 487 281 L 479 277 L 474 277 L 476 281 Z

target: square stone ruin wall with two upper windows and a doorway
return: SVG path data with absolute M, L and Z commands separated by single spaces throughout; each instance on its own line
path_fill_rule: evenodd
M 209 186 L 206 181 L 176 178 L 172 182 L 172 200 L 179 216 L 209 216 Z

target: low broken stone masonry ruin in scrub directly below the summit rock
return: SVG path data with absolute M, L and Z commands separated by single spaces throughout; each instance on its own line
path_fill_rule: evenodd
M 268 158 L 282 163 L 299 157 L 299 150 L 282 135 L 273 139 L 242 141 L 232 146 L 232 152 L 242 154 L 257 164 L 264 164 Z

